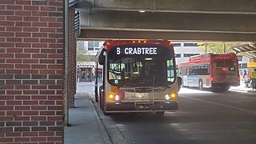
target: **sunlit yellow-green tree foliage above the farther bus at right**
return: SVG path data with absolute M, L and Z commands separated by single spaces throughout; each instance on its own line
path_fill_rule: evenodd
M 234 52 L 231 47 L 238 45 L 236 43 L 198 43 L 201 54 L 214 53 L 225 54 Z

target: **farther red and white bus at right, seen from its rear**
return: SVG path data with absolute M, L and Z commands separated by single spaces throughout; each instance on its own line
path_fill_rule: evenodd
M 239 86 L 238 58 L 236 54 L 202 54 L 178 65 L 182 86 L 198 86 L 226 91 Z

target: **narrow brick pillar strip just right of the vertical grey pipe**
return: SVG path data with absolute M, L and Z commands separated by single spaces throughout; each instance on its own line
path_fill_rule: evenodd
M 69 106 L 74 107 L 74 94 L 76 93 L 76 69 L 77 69 L 77 56 L 76 56 L 76 38 L 74 31 L 74 6 L 69 8 L 69 78 L 68 78 L 68 95 Z

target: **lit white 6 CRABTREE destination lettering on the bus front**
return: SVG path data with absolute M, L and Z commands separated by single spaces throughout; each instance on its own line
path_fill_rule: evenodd
M 125 47 L 125 48 L 116 48 L 116 54 L 125 54 L 125 55 L 156 55 L 158 54 L 157 47 Z

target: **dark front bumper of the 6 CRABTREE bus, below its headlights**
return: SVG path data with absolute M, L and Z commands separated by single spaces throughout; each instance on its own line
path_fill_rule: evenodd
M 149 111 L 174 111 L 178 110 L 178 102 L 153 103 L 106 103 L 107 112 L 149 112 Z

